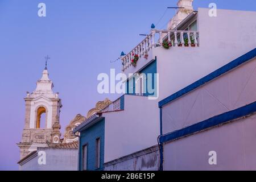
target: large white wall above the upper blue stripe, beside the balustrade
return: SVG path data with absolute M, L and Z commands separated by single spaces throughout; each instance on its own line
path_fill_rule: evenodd
M 199 47 L 156 47 L 160 100 L 256 47 L 256 12 L 199 9 Z

